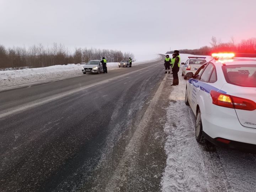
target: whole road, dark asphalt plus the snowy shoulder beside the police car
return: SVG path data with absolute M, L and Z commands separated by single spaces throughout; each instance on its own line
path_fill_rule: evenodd
M 1 91 L 0 191 L 255 191 L 256 155 L 196 142 L 163 60 Z

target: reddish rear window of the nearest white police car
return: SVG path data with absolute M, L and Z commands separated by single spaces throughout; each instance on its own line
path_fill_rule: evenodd
M 224 65 L 226 82 L 242 87 L 256 87 L 256 65 Z

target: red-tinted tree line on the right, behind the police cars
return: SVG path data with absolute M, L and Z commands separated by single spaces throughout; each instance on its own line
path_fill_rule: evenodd
M 222 43 L 221 39 L 217 39 L 213 36 L 210 44 L 211 47 L 203 46 L 199 49 L 181 49 L 180 53 L 193 55 L 210 55 L 214 52 L 256 53 L 256 38 L 242 40 L 240 43 L 236 44 L 234 37 L 231 37 L 230 42 Z M 173 51 L 166 53 L 173 53 Z

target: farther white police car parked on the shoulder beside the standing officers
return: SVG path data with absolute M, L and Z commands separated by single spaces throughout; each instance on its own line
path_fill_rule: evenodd
M 202 64 L 206 63 L 205 59 L 206 57 L 188 57 L 186 63 L 181 63 L 181 75 L 184 76 L 184 79 L 187 79 L 188 72 L 196 73 L 197 69 L 199 69 Z

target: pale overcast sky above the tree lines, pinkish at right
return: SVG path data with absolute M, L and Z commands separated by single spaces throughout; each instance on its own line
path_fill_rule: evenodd
M 136 54 L 256 37 L 256 0 L 0 0 L 0 44 Z

